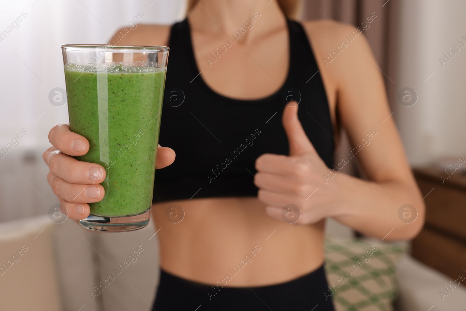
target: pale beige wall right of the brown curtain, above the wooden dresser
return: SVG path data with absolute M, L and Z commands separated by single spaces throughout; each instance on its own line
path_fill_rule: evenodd
M 413 88 L 418 102 L 393 107 L 412 165 L 466 152 L 466 46 L 444 67 L 439 62 L 458 41 L 466 44 L 465 13 L 465 1 L 400 1 L 397 90 Z

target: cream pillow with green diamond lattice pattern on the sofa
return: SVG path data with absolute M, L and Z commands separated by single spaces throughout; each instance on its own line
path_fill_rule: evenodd
M 380 240 L 325 239 L 325 272 L 336 311 L 393 311 L 395 265 L 407 244 Z

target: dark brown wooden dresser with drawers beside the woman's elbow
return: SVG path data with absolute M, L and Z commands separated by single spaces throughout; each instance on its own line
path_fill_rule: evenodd
M 456 280 L 466 276 L 466 175 L 415 168 L 425 197 L 425 226 L 412 241 L 412 256 Z M 462 282 L 463 283 L 463 282 Z

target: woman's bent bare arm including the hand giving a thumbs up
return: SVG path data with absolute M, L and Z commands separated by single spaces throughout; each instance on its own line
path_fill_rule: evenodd
M 356 31 L 343 24 L 331 27 L 330 34 L 323 31 L 317 36 L 321 41 L 313 42 L 317 62 L 322 62 L 326 55 L 323 51 L 332 51 L 341 41 L 348 41 L 345 35 Z M 296 111 L 286 107 L 283 123 L 290 148 L 295 148 L 295 152 L 290 150 L 289 157 L 265 154 L 257 159 L 259 199 L 270 205 L 267 213 L 277 219 L 281 219 L 281 207 L 293 203 L 302 213 L 298 223 L 333 217 L 364 235 L 385 240 L 413 238 L 424 224 L 424 201 L 404 155 L 393 116 L 389 117 L 391 110 L 382 73 L 367 40 L 359 34 L 327 67 L 319 65 L 336 84 L 336 109 L 355 148 L 348 150 L 345 159 L 337 159 L 336 167 L 357 159 L 367 180 L 340 173 L 338 169 L 329 173 L 312 144 L 305 142 Z M 418 214 L 415 221 L 406 223 L 399 218 L 398 211 L 404 204 L 415 207 Z

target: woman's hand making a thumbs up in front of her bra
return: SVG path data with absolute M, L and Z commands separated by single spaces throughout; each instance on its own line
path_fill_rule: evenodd
M 336 212 L 341 191 L 336 178 L 326 183 L 322 177 L 328 173 L 328 167 L 302 128 L 298 105 L 291 104 L 285 106 L 282 118 L 289 156 L 262 154 L 256 159 L 254 184 L 259 188 L 259 200 L 267 204 L 266 213 L 270 217 L 290 223 L 315 223 Z M 288 211 L 299 218 L 287 220 Z

